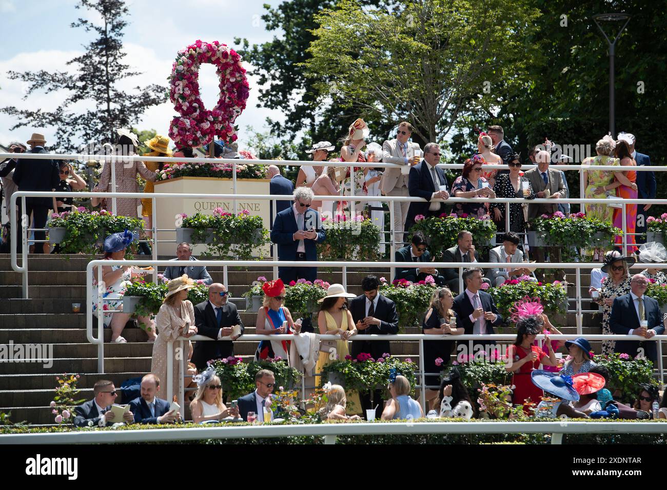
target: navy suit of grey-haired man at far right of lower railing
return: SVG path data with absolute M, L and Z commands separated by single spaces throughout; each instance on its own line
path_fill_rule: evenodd
M 646 314 L 646 321 L 648 321 L 648 327 L 646 327 L 646 329 L 653 329 L 656 331 L 656 335 L 662 335 L 665 331 L 665 327 L 658 301 L 646 295 L 644 295 L 643 298 L 644 313 Z M 609 318 L 609 327 L 612 332 L 618 333 L 618 335 L 628 335 L 630 330 L 639 328 L 639 317 L 637 316 L 637 310 L 634 307 L 632 295 L 630 295 L 630 293 L 614 299 L 614 303 L 612 304 L 612 314 Z M 640 341 L 617 340 L 614 351 L 636 357 L 639 347 Z M 645 342 L 644 350 L 646 357 L 655 363 L 658 359 L 656 341 L 650 340 Z

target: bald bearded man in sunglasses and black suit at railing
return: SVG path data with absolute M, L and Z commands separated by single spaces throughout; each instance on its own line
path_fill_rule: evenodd
M 197 341 L 192 362 L 201 371 L 211 359 L 225 359 L 234 355 L 234 343 L 243 335 L 243 322 L 236 305 L 228 300 L 227 288 L 214 283 L 209 286 L 209 299 L 195 305 L 195 325 L 199 335 L 215 341 Z M 223 340 L 223 339 L 231 340 Z

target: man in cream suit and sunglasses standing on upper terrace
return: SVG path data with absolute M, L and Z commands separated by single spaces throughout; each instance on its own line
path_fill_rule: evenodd
M 420 149 L 420 145 L 408 141 L 412 135 L 412 125 L 406 121 L 398 125 L 396 139 L 385 141 L 382 145 L 382 161 L 384 163 L 394 163 L 401 167 L 386 168 L 380 180 L 380 191 L 388 196 L 408 197 L 408 172 L 410 165 L 414 165 L 415 150 Z M 394 207 L 394 241 L 403 243 L 403 231 L 408 217 L 408 208 L 410 202 L 390 203 Z

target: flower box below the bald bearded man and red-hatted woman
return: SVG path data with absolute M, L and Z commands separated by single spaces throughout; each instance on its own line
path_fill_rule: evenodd
M 281 357 L 244 363 L 241 357 L 230 356 L 211 360 L 208 364 L 213 366 L 215 374 L 220 378 L 223 396 L 227 400 L 235 400 L 252 393 L 255 390 L 255 374 L 260 369 L 273 371 L 276 386 L 290 389 L 301 382 L 301 373 L 289 367 L 287 361 Z

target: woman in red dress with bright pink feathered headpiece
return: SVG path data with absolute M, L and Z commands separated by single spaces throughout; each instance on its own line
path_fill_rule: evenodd
M 544 335 L 543 343 L 547 346 L 547 356 L 540 347 L 533 345 L 538 333 L 544 330 L 544 321 L 537 315 L 522 317 L 516 322 L 516 341 L 508 349 L 508 363 L 505 369 L 514 373 L 512 384 L 515 386 L 512 403 L 524 405 L 526 415 L 533 415 L 526 399 L 536 405 L 542 401 L 543 392 L 530 379 L 534 369 L 540 369 L 540 363 L 545 366 L 556 366 L 556 355 L 551 347 L 548 335 Z

